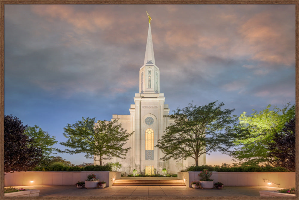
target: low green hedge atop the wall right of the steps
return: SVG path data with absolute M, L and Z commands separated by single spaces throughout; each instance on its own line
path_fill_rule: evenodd
M 210 165 L 190 166 L 186 170 L 182 170 L 182 172 L 186 172 L 186 171 L 199 172 L 202 171 L 203 169 L 207 169 L 208 171 L 214 171 L 214 172 L 289 172 L 283 167 L 270 167 L 270 166 L 212 167 Z

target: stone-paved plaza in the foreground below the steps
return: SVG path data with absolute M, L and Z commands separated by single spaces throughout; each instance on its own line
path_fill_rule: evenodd
M 17 186 L 14 186 L 17 187 Z M 76 186 L 20 186 L 40 190 L 39 196 L 260 196 L 261 190 L 278 190 L 275 187 L 227 186 L 218 189 L 193 189 L 183 186 L 111 186 L 97 189 L 78 189 Z M 19 187 L 17 187 L 19 188 Z

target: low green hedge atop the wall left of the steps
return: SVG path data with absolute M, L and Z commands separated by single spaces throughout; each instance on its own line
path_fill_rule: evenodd
M 108 165 L 89 165 L 86 167 L 34 167 L 32 171 L 67 171 L 67 172 L 80 172 L 80 171 L 112 171 L 111 167 Z

